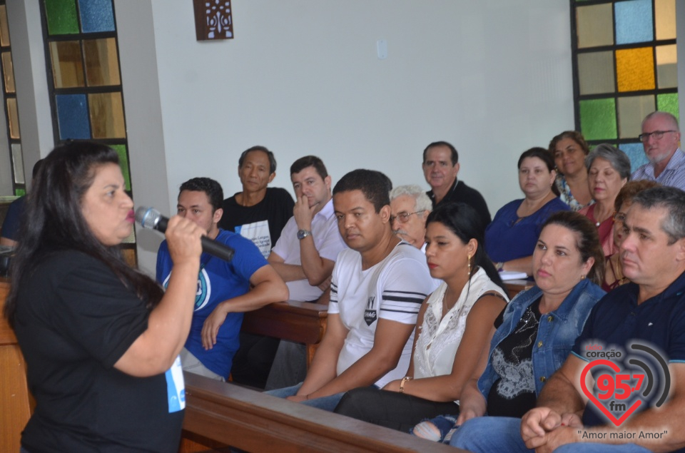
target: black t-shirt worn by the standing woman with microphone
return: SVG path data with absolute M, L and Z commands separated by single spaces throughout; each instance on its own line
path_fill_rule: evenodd
M 15 331 L 36 410 L 21 444 L 41 452 L 176 452 L 183 410 L 167 378 L 113 368 L 147 329 L 145 302 L 101 261 L 56 253 L 21 281 Z

